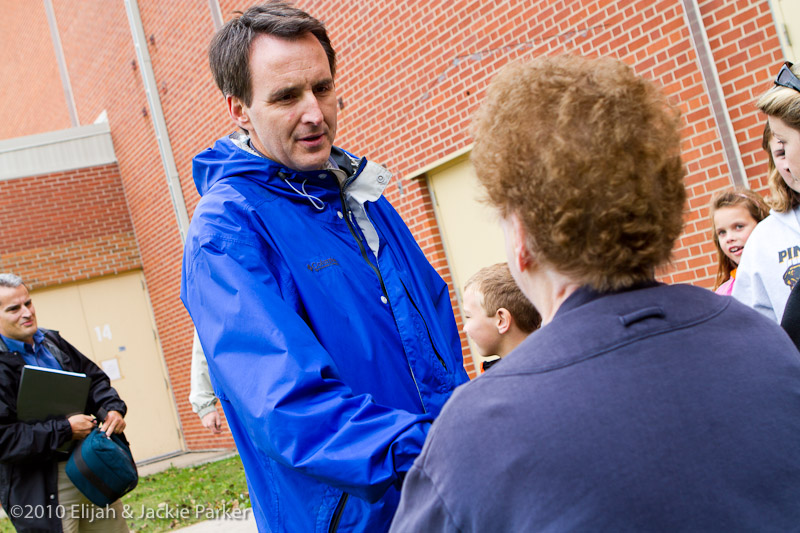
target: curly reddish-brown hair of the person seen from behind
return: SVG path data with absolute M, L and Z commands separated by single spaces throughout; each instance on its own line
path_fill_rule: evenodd
M 654 277 L 683 228 L 680 113 L 612 58 L 506 66 L 477 112 L 472 161 L 528 249 L 596 290 Z

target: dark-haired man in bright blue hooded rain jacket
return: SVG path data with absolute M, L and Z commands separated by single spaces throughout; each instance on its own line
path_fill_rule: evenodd
M 467 381 L 447 285 L 382 197 L 391 174 L 333 146 L 322 23 L 256 6 L 209 57 L 241 131 L 194 159 L 181 298 L 256 521 L 386 530 L 431 421 Z

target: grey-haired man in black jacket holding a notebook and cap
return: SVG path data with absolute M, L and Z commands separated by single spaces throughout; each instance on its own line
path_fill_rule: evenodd
M 80 372 L 91 378 L 86 413 L 43 421 L 17 419 L 25 365 Z M 121 433 L 126 407 L 108 376 L 55 331 L 40 329 L 27 287 L 0 274 L 0 502 L 17 531 L 128 531 L 119 500 L 100 508 L 69 481 L 69 454 L 59 451 L 102 429 Z

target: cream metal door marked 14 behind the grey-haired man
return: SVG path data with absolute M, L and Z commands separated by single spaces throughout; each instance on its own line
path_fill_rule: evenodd
M 105 370 L 125 400 L 134 459 L 183 449 L 142 273 L 34 289 L 32 298 L 39 325 L 61 332 Z

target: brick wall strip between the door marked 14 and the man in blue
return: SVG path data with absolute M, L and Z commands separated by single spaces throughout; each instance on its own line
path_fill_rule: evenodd
M 190 449 L 230 447 L 230 433 L 212 437 L 188 402 L 192 324 L 179 298 L 183 244 L 125 6 L 123 2 L 105 0 L 54 0 L 53 4 L 81 121 L 93 121 L 103 110 L 108 113 L 159 341 L 187 445 Z M 191 157 L 227 127 L 224 115 L 215 112 L 219 97 L 212 98 L 213 84 L 204 64 L 204 50 L 213 33 L 208 2 L 140 1 L 139 7 L 167 131 L 191 213 L 199 199 L 191 180 Z

